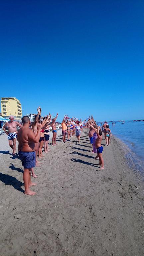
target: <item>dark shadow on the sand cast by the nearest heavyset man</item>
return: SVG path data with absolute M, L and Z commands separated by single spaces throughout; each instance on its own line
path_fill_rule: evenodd
M 21 181 L 17 180 L 15 177 L 12 177 L 8 174 L 3 174 L 0 172 L 0 180 L 5 184 L 5 185 L 10 185 L 13 186 L 14 189 L 23 192 L 24 190 L 21 188 L 21 186 L 24 185 Z

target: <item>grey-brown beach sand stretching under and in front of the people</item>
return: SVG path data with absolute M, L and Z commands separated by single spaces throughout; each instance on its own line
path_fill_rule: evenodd
M 0 256 L 144 255 L 143 182 L 116 138 L 99 170 L 84 129 L 52 146 L 35 168 L 35 196 L 23 193 L 23 167 L 0 137 Z M 51 133 L 52 136 L 52 133 Z M 105 144 L 105 141 L 102 141 Z

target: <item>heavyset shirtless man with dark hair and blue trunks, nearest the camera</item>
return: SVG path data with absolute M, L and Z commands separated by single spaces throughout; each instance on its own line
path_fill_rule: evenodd
M 30 187 L 37 185 L 31 182 L 31 168 L 35 167 L 36 154 L 35 143 L 39 142 L 41 133 L 41 123 L 37 126 L 37 133 L 34 133 L 30 128 L 31 121 L 28 116 L 22 118 L 23 127 L 18 131 L 17 139 L 19 142 L 18 151 L 21 158 L 22 165 L 24 166 L 23 180 L 25 186 L 25 194 L 33 196 L 36 193 L 30 190 Z

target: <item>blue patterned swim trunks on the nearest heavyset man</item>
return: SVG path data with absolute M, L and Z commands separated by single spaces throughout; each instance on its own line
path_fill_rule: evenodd
M 22 166 L 26 169 L 30 169 L 36 166 L 36 153 L 19 151 L 19 157 L 22 161 Z

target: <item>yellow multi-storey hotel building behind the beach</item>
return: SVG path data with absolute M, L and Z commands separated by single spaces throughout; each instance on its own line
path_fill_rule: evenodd
M 22 105 L 15 97 L 1 98 L 2 117 L 13 115 L 17 120 L 22 119 Z

